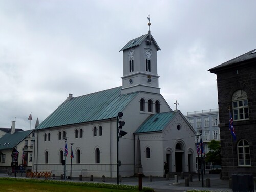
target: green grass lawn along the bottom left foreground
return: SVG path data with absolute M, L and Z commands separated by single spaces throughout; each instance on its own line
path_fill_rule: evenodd
M 41 192 L 41 191 L 92 191 L 92 192 L 124 192 L 138 191 L 138 188 L 127 185 L 113 185 L 101 183 L 82 183 L 82 182 L 63 182 L 41 179 L 15 179 L 15 178 L 0 178 L 0 191 L 26 191 L 26 192 Z M 143 191 L 154 191 L 150 188 L 143 188 Z

